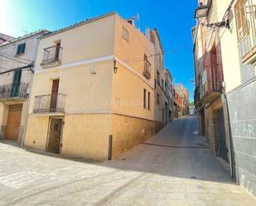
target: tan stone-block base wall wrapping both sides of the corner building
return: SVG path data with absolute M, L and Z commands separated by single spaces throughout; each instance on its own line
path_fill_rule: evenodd
M 118 114 L 66 114 L 60 153 L 67 156 L 107 160 L 109 136 L 113 136 L 112 159 L 152 137 L 164 124 Z M 49 116 L 30 115 L 25 146 L 46 150 Z

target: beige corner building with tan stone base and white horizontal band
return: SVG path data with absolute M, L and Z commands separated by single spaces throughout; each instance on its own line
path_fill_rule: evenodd
M 42 37 L 24 145 L 105 160 L 152 137 L 155 52 L 115 12 Z

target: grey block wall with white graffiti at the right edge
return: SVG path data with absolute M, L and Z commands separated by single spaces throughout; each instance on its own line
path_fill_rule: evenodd
M 256 81 L 228 93 L 231 146 L 239 184 L 256 195 Z

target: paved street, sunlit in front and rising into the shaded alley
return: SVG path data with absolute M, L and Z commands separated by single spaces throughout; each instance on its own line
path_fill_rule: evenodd
M 0 141 L 0 205 L 256 205 L 196 135 L 175 120 L 117 160 L 69 160 Z

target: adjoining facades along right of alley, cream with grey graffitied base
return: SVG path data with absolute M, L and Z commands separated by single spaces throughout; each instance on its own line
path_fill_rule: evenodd
M 255 0 L 200 1 L 193 29 L 200 132 L 231 177 L 254 196 L 255 7 Z

